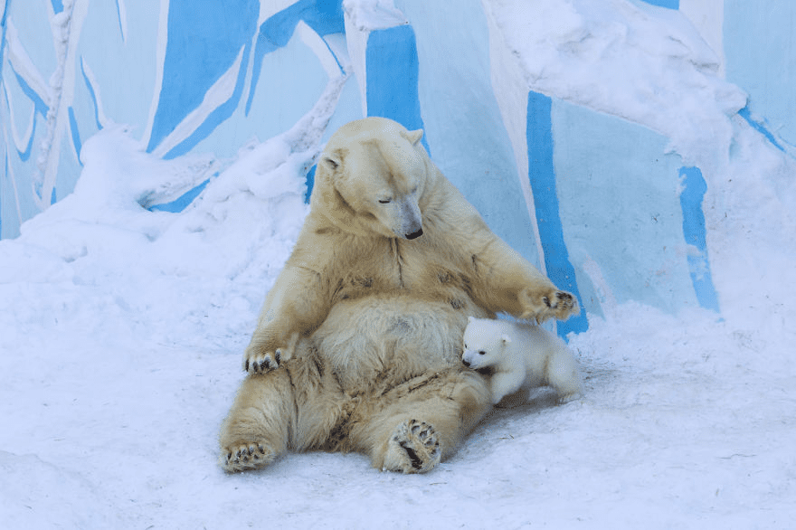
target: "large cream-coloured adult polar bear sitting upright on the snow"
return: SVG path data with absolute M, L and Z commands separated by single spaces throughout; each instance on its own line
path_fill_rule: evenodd
M 576 298 L 488 229 L 421 137 L 365 118 L 329 139 L 223 422 L 227 471 L 288 449 L 428 471 L 490 407 L 484 376 L 460 362 L 468 316 L 577 313 Z

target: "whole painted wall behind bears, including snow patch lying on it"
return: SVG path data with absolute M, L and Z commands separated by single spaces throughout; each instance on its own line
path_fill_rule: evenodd
M 328 99 L 324 140 L 367 115 L 425 129 L 432 159 L 492 229 L 578 295 L 586 310 L 558 324 L 566 335 L 626 301 L 721 313 L 723 300 L 739 296 L 726 261 L 737 227 L 725 219 L 738 204 L 727 183 L 746 175 L 764 195 L 792 176 L 790 3 L 5 0 L 0 8 L 3 238 L 71 194 L 83 142 L 113 124 L 126 124 L 151 154 L 189 159 L 190 172 L 141 203 L 179 214 L 239 151 Z M 754 156 L 772 156 L 784 180 L 749 176 L 742 168 Z M 314 170 L 299 170 L 309 192 Z

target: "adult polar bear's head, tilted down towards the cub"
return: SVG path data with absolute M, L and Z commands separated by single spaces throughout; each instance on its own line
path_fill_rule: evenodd
M 420 200 L 430 172 L 421 138 L 422 130 L 387 118 L 337 129 L 317 164 L 312 209 L 346 232 L 422 236 Z

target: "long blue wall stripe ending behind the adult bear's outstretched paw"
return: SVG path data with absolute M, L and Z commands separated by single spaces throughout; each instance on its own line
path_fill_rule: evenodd
M 583 308 L 575 270 L 569 261 L 569 253 L 564 243 L 564 228 L 558 210 L 553 164 L 553 122 L 550 114 L 552 100 L 543 94 L 528 92 L 527 109 L 528 178 L 534 195 L 536 224 L 542 240 L 547 277 L 558 289 L 573 293 Z M 583 309 L 580 315 L 557 323 L 558 335 L 563 337 L 570 332 L 580 333 L 588 328 L 589 321 Z

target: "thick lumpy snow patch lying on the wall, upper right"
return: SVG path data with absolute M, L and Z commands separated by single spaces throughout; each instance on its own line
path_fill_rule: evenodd
M 687 158 L 696 146 L 729 142 L 728 116 L 746 95 L 716 75 L 715 53 L 678 11 L 545 0 L 527 16 L 522 2 L 484 4 L 529 88 L 646 125 Z

